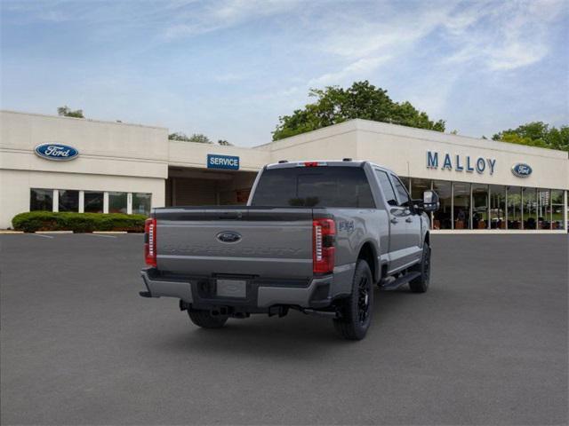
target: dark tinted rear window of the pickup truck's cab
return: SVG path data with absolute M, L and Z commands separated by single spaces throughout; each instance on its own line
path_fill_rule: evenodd
M 375 208 L 363 169 L 296 167 L 264 170 L 252 206 Z

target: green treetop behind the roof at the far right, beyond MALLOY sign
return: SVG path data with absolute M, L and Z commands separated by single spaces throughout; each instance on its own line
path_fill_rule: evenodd
M 544 122 L 528 122 L 516 129 L 502 130 L 493 135 L 492 138 L 511 144 L 539 146 L 569 152 L 568 125 L 563 125 L 557 129 L 553 126 L 549 127 L 549 124 Z

